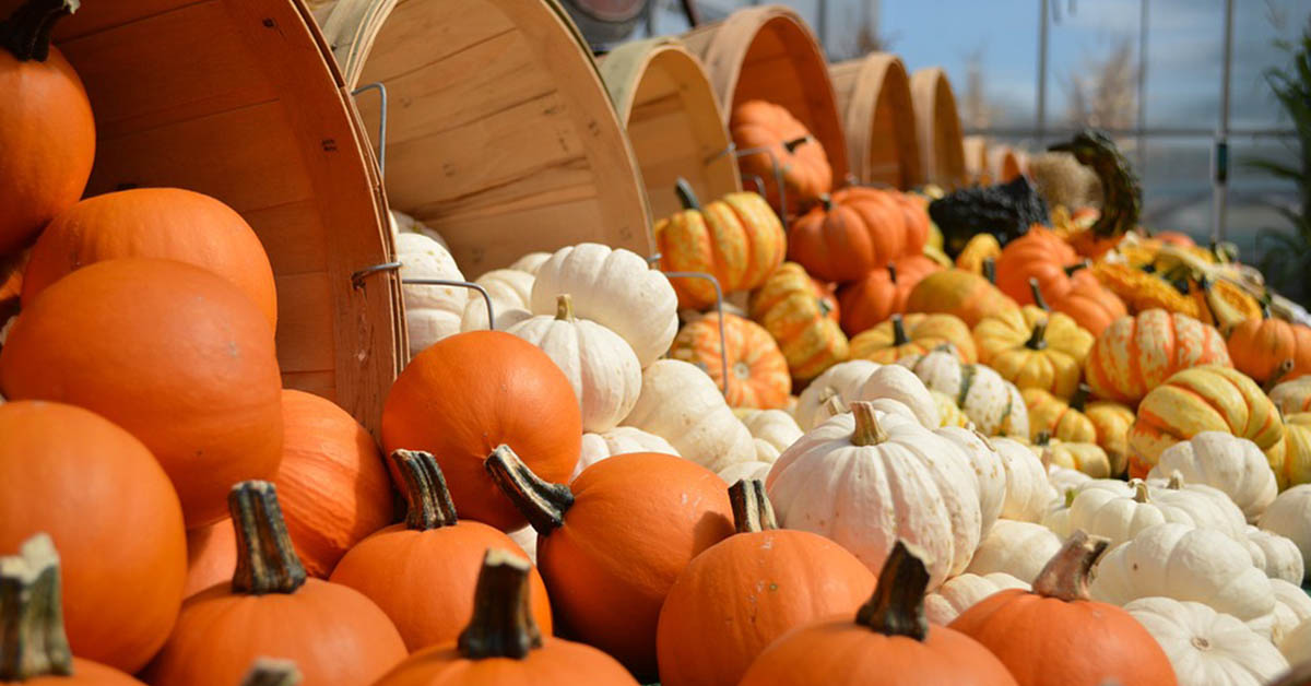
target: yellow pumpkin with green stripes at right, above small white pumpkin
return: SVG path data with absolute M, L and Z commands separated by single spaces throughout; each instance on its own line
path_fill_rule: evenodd
M 1287 485 L 1278 411 L 1252 379 L 1219 365 L 1185 369 L 1143 397 L 1129 430 L 1130 472 L 1146 475 L 1167 447 L 1205 430 L 1252 441 L 1265 453 L 1280 485 Z

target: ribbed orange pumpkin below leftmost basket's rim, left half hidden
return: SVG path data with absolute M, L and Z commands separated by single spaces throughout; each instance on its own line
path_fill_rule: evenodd
M 332 400 L 282 392 L 278 500 L 311 576 L 328 578 L 364 536 L 392 523 L 392 484 L 378 443 Z

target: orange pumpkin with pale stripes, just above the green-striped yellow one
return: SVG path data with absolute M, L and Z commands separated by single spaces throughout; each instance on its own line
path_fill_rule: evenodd
M 1133 405 L 1179 370 L 1230 363 L 1214 327 L 1164 310 L 1117 319 L 1097 336 L 1084 374 L 1092 392 Z

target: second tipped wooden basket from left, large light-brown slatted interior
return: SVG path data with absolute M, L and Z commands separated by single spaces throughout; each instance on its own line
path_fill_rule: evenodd
M 387 87 L 388 203 L 438 230 L 467 277 L 586 240 L 652 252 L 637 163 L 553 0 L 324 9 L 346 84 Z M 357 106 L 375 136 L 379 98 Z

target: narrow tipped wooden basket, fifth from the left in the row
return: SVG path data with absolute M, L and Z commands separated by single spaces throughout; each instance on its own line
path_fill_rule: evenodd
M 901 58 L 871 52 L 830 66 L 829 75 L 856 180 L 903 190 L 923 184 L 910 76 Z

